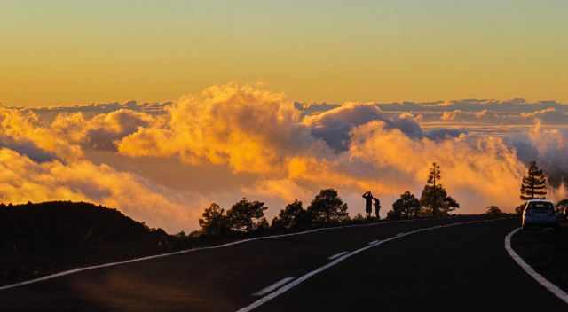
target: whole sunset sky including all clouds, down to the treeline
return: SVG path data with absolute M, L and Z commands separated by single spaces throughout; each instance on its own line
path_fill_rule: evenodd
M 513 212 L 568 196 L 568 3 L 0 2 L 0 202 L 83 200 L 170 233 L 333 188 Z

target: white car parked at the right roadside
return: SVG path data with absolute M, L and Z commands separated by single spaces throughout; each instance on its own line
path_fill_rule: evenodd
M 539 227 L 560 230 L 554 204 L 549 200 L 531 199 L 526 202 L 523 211 L 523 229 Z

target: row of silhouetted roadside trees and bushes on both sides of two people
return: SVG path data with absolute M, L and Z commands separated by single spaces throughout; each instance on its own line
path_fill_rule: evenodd
M 420 199 L 409 191 L 400 195 L 387 213 L 388 220 L 409 220 L 416 218 L 441 218 L 451 215 L 460 204 L 447 194 L 440 183 L 440 166 L 433 163 Z M 334 189 L 319 191 L 307 207 L 295 199 L 268 222 L 264 215 L 264 203 L 241 199 L 225 211 L 216 203 L 203 212 L 199 225 L 201 230 L 194 236 L 223 237 L 242 236 L 267 231 L 280 232 L 327 227 L 340 224 L 379 222 L 377 217 L 355 214 L 350 217 L 349 207 Z

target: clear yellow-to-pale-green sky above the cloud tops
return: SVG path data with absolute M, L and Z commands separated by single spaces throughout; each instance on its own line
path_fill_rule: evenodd
M 568 102 L 567 13 L 563 0 L 4 0 L 0 103 L 159 102 L 227 82 L 300 102 Z

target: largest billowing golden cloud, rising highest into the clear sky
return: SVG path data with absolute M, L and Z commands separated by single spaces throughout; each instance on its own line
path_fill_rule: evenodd
M 283 95 L 235 84 L 181 98 L 162 122 L 118 143 L 119 152 L 132 157 L 175 156 L 259 173 L 277 171 L 290 155 L 322 148 Z

